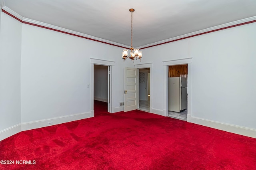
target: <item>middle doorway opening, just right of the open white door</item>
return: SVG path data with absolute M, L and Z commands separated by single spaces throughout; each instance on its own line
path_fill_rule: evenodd
M 139 110 L 150 112 L 150 68 L 139 69 Z

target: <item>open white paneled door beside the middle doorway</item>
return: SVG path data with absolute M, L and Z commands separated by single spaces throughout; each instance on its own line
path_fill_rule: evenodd
M 124 68 L 124 111 L 138 109 L 138 69 Z

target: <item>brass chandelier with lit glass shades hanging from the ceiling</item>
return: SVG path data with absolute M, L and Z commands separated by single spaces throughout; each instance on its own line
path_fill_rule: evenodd
M 135 10 L 131 8 L 129 11 L 130 12 L 134 12 Z M 128 55 L 128 50 L 127 49 L 123 50 L 124 52 L 122 52 L 122 58 L 124 60 L 126 60 L 127 58 L 130 58 L 132 60 L 132 62 L 133 62 L 133 60 L 135 58 L 136 59 L 141 59 L 142 58 L 142 51 L 140 51 L 137 48 L 133 49 L 133 47 L 132 47 L 132 36 L 131 36 L 131 47 L 130 47 L 130 49 L 131 49 L 130 55 Z

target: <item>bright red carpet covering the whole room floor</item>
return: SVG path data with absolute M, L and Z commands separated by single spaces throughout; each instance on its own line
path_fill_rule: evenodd
M 29 164 L 0 164 L 0 169 L 256 169 L 255 138 L 138 110 L 110 114 L 105 103 L 95 104 L 94 118 L 2 140 L 0 160 Z

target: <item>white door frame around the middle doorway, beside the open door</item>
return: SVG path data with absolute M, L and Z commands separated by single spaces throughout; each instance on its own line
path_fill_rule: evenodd
M 137 69 L 144 69 L 144 68 L 150 68 L 150 98 L 149 98 L 149 113 L 152 113 L 152 101 L 153 101 L 153 93 L 152 93 L 152 67 L 153 63 L 145 63 L 145 64 L 134 64 L 134 68 Z M 138 74 L 139 76 L 140 74 Z M 139 79 L 140 77 L 138 77 Z M 139 93 L 139 92 L 138 92 Z M 138 99 L 138 109 L 139 109 L 139 99 Z

